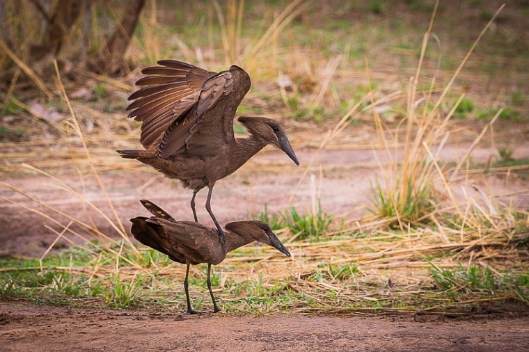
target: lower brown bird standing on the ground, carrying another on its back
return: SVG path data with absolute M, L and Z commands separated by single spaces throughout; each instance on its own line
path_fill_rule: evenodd
M 187 313 L 195 314 L 189 298 L 189 266 L 207 263 L 207 289 L 213 301 L 213 312 L 219 312 L 211 289 L 211 266 L 221 263 L 226 253 L 253 241 L 268 244 L 290 257 L 290 252 L 279 241 L 276 234 L 262 221 L 235 221 L 225 226 L 226 243 L 223 243 L 216 230 L 192 221 L 176 221 L 148 200 L 141 204 L 154 216 L 138 216 L 130 219 L 134 238 L 152 249 L 168 255 L 174 262 L 186 264 L 184 290 L 187 300 Z

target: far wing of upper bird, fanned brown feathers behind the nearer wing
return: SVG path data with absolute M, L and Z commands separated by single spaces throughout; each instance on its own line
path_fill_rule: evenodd
M 141 71 L 148 76 L 136 85 L 145 87 L 129 96 L 134 102 L 127 106 L 129 118 L 143 122 L 140 142 L 145 149 L 159 142 L 171 122 L 198 102 L 204 82 L 215 75 L 180 61 L 162 60 L 158 64 L 161 66 Z

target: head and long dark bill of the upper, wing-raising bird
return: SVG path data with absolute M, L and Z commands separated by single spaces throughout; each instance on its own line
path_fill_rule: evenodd
M 271 118 L 241 116 L 237 119 L 255 138 L 261 138 L 268 144 L 283 150 L 285 154 L 299 165 L 299 161 L 290 145 L 285 129 L 276 120 Z

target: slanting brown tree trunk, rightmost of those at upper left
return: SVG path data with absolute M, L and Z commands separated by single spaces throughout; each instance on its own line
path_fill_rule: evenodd
M 127 8 L 120 24 L 112 34 L 102 52 L 102 67 L 107 74 L 118 73 L 124 65 L 123 56 L 138 23 L 145 0 L 127 1 Z

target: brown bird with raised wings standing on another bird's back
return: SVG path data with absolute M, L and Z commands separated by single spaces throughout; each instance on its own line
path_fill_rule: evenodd
M 195 196 L 208 187 L 206 209 L 224 238 L 211 210 L 215 182 L 240 168 L 266 145 L 275 145 L 299 165 L 285 129 L 262 117 L 240 117 L 250 136 L 235 138 L 233 118 L 250 89 L 250 77 L 241 67 L 208 72 L 180 61 L 158 61 L 136 82 L 145 86 L 129 96 L 129 118 L 143 122 L 140 142 L 145 150 L 118 150 L 122 157 L 137 159 L 179 179 L 193 190 L 191 209 L 195 221 Z

